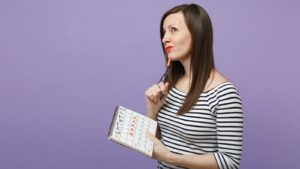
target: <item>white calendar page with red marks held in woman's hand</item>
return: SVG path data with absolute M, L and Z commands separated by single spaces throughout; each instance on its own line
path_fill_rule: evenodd
M 122 106 L 117 106 L 108 139 L 152 157 L 153 143 L 146 137 L 155 135 L 157 122 Z

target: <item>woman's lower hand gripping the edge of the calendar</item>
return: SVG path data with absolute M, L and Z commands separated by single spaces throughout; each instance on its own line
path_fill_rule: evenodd
M 168 162 L 168 159 L 171 157 L 172 153 L 168 150 L 160 140 L 158 140 L 155 136 L 150 133 L 147 133 L 147 137 L 153 142 L 153 154 L 152 158 Z

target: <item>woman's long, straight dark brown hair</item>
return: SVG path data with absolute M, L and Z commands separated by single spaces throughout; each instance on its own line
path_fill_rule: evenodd
M 184 15 L 185 24 L 191 33 L 192 48 L 191 48 L 191 63 L 190 72 L 192 74 L 192 82 L 186 99 L 179 109 L 179 115 L 188 112 L 191 107 L 199 99 L 205 85 L 209 79 L 211 72 L 215 69 L 213 57 L 213 30 L 212 23 L 208 13 L 199 5 L 184 4 L 175 6 L 168 10 L 160 22 L 160 37 L 164 36 L 163 23 L 165 18 L 173 13 L 182 12 Z M 164 44 L 162 43 L 164 50 Z M 166 62 L 167 55 L 164 51 Z M 174 87 L 176 82 L 185 74 L 183 65 L 179 61 L 171 62 L 167 75 L 167 82 L 170 88 Z M 169 88 L 169 89 L 170 89 Z

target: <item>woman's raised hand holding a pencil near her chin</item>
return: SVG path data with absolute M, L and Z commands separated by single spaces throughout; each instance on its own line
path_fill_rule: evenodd
M 154 84 L 146 90 L 145 96 L 148 117 L 156 120 L 157 113 L 166 99 L 168 87 L 168 82 L 160 82 L 159 84 Z

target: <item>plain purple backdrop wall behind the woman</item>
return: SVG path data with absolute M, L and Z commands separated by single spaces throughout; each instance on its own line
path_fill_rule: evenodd
M 0 1 L 0 168 L 153 169 L 106 139 L 164 71 L 159 21 L 197 2 L 244 104 L 242 169 L 300 168 L 299 1 Z

